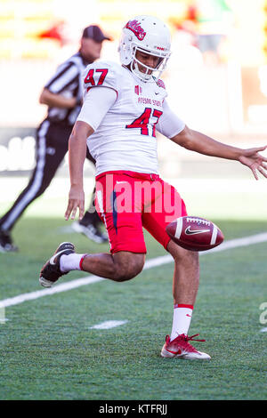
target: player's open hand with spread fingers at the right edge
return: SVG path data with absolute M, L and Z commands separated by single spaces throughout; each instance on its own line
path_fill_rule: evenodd
M 254 174 L 255 180 L 258 180 L 258 173 L 262 173 L 267 178 L 267 158 L 259 154 L 260 151 L 264 151 L 267 146 L 251 149 L 243 149 L 241 157 L 239 157 L 240 163 L 247 165 Z

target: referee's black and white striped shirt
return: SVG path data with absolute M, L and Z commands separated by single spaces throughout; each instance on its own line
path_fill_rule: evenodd
M 76 97 L 77 106 L 73 109 L 48 108 L 47 119 L 51 122 L 63 122 L 74 125 L 81 109 L 83 100 L 83 80 L 85 68 L 91 62 L 86 61 L 80 52 L 64 61 L 56 70 L 54 76 L 44 85 L 44 88 L 67 98 Z

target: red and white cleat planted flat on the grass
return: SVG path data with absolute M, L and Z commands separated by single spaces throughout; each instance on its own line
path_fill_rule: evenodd
M 210 360 L 210 356 L 206 353 L 202 353 L 193 347 L 189 342 L 205 342 L 205 340 L 194 340 L 193 337 L 196 337 L 198 334 L 188 335 L 181 334 L 178 335 L 172 342 L 169 335 L 166 335 L 166 343 L 164 344 L 161 350 L 161 357 L 166 358 L 182 358 L 184 360 Z

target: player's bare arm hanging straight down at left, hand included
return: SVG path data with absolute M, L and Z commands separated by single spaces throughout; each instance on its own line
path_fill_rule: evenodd
M 79 220 L 85 213 L 84 163 L 86 156 L 86 140 L 93 133 L 92 126 L 77 121 L 69 137 L 69 202 L 65 220 L 74 219 L 79 209 Z

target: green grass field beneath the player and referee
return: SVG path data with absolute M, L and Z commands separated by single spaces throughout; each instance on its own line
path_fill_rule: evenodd
M 20 252 L 0 253 L 0 301 L 41 290 L 39 270 L 61 241 L 72 240 L 80 253 L 108 250 L 70 233 L 61 205 L 40 199 L 14 229 Z M 263 217 L 241 218 L 214 213 L 213 221 L 226 240 L 266 231 Z M 146 242 L 148 258 L 166 254 L 147 234 Z M 266 399 L 267 334 L 259 319 L 267 301 L 266 253 L 263 243 L 201 255 L 190 334 L 206 339 L 195 346 L 210 362 L 160 358 L 172 326 L 172 263 L 129 282 L 103 280 L 6 308 L 0 399 Z M 85 276 L 72 272 L 61 282 Z M 92 329 L 109 320 L 127 323 Z

